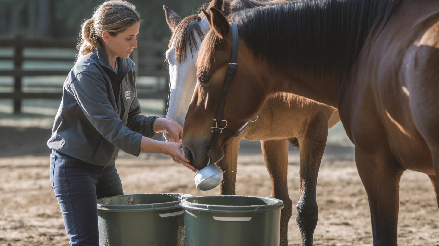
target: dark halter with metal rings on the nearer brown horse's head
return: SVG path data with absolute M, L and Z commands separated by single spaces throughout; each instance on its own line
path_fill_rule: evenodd
M 237 132 L 234 132 L 232 130 L 227 129 L 227 120 L 223 119 L 223 112 L 224 112 L 224 106 L 226 105 L 226 98 L 227 98 L 227 92 L 230 87 L 230 83 L 233 80 L 233 76 L 235 75 L 236 66 L 237 66 L 237 56 L 238 56 L 238 26 L 236 22 L 230 22 L 230 25 L 232 26 L 232 51 L 230 54 L 230 63 L 229 68 L 227 69 L 226 78 L 224 79 L 223 83 L 223 90 L 221 90 L 221 95 L 219 96 L 219 102 L 218 107 L 216 108 L 216 115 L 215 119 L 215 127 L 212 127 L 212 138 L 210 139 L 210 145 L 209 145 L 209 151 L 212 151 L 216 147 L 216 141 L 218 140 L 218 135 L 220 133 L 226 134 L 229 137 L 237 137 L 241 133 L 242 130 L 244 130 L 245 127 L 247 127 L 248 123 L 255 122 L 258 120 L 256 118 L 255 120 L 249 120 L 241 129 L 239 129 Z M 257 116 L 256 116 L 257 117 Z M 218 122 L 226 122 L 226 126 L 221 128 L 218 127 Z

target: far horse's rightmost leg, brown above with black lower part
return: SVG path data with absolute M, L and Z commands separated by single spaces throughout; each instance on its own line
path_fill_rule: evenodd
M 317 226 L 316 201 L 317 176 L 326 146 L 327 124 L 316 120 L 309 123 L 306 134 L 299 139 L 300 145 L 300 199 L 296 205 L 296 222 L 302 235 L 302 246 L 313 245 L 313 234 Z

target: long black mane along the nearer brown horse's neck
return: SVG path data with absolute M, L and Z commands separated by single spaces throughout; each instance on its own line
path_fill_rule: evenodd
M 344 74 L 400 0 L 298 0 L 229 16 L 256 57 L 302 71 Z M 382 26 L 381 26 L 382 27 Z M 378 30 L 379 31 L 379 30 Z

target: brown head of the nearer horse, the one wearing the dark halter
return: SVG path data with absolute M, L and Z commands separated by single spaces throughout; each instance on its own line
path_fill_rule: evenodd
M 204 11 L 204 10 L 203 10 Z M 216 8 L 210 8 L 211 14 L 204 11 L 212 30 L 205 36 L 197 58 L 197 83 L 191 104 L 184 121 L 184 154 L 191 164 L 202 169 L 209 157 L 211 163 L 223 158 L 223 147 L 229 136 L 219 134 L 216 147 L 209 150 L 212 137 L 213 120 L 226 72 L 230 63 L 232 47 L 232 28 L 224 15 Z M 258 73 L 255 56 L 248 50 L 243 40 L 239 39 L 237 49 L 237 68 L 234 78 L 227 90 L 227 99 L 223 110 L 223 119 L 227 128 L 237 132 L 249 120 L 255 119 L 257 112 L 266 99 L 266 85 Z M 218 122 L 218 127 L 225 127 L 226 122 Z

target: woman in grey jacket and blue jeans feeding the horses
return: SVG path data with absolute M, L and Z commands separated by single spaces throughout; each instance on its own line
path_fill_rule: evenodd
M 140 14 L 125 1 L 101 4 L 82 25 L 79 57 L 64 82 L 47 145 L 50 181 L 70 245 L 99 245 L 96 199 L 123 195 L 115 168 L 119 149 L 164 153 L 194 167 L 180 152 L 183 127 L 173 119 L 140 116 L 136 71 Z M 167 130 L 173 142 L 152 140 Z

